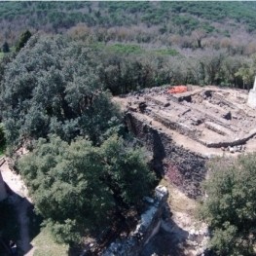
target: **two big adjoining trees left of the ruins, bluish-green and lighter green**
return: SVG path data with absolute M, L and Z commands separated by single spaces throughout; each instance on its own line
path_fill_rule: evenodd
M 7 144 L 30 150 L 18 172 L 44 224 L 70 244 L 110 228 L 130 207 L 138 212 L 155 181 L 98 59 L 80 41 L 35 35 L 6 64 L 1 84 Z

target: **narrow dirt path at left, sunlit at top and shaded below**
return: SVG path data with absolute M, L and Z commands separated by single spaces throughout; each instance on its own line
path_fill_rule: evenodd
M 18 248 L 27 252 L 26 256 L 33 255 L 33 249 L 29 238 L 29 219 L 27 210 L 31 206 L 31 199 L 28 197 L 28 191 L 20 175 L 12 171 L 8 165 L 8 159 L 0 167 L 2 176 L 9 188 L 15 193 L 11 196 L 12 201 L 17 209 L 18 222 L 20 225 L 20 240 L 18 240 Z

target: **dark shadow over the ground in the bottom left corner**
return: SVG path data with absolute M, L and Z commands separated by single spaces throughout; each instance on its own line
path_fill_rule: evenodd
M 30 201 L 5 185 L 8 198 L 0 202 L 0 256 L 25 255 L 33 247 L 30 242 L 39 234 L 42 220 Z

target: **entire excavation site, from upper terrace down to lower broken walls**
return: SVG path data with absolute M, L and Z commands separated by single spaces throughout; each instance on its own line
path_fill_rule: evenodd
M 166 86 L 115 98 L 169 196 L 150 205 L 131 237 L 112 243 L 103 255 L 207 255 L 207 225 L 194 218 L 201 182 L 210 159 L 256 151 L 254 93 Z

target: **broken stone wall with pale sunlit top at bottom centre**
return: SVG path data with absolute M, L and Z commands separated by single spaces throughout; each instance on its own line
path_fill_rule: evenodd
M 135 231 L 131 232 L 128 238 L 112 242 L 101 255 L 139 255 L 143 246 L 159 231 L 167 197 L 167 189 L 164 186 L 158 186 L 155 190 L 154 200 L 148 199 L 149 207 L 141 215 Z

